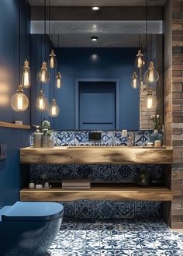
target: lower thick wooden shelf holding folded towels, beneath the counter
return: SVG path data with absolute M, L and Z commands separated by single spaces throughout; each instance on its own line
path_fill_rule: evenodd
M 172 191 L 164 187 L 139 188 L 139 187 L 112 187 L 102 186 L 91 189 L 29 189 L 20 191 L 21 201 L 74 201 L 80 199 L 91 200 L 140 200 L 140 201 L 172 201 Z

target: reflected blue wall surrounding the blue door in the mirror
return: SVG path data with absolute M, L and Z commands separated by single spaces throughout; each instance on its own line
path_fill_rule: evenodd
M 74 129 L 74 82 L 79 78 L 119 79 L 119 128 L 139 129 L 139 90 L 130 86 L 136 48 L 57 48 L 62 89 L 56 89 L 60 115 L 54 128 Z M 51 97 L 51 94 L 50 94 Z

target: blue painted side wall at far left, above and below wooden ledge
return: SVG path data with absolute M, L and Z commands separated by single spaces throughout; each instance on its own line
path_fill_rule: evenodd
M 21 66 L 26 58 L 25 1 L 21 0 Z M 27 23 L 29 30 L 29 23 Z M 10 98 L 19 86 L 19 1 L 1 0 L 0 8 L 0 121 L 22 120 L 29 124 L 29 109 L 16 113 L 10 107 Z M 27 47 L 29 57 L 29 45 Z M 29 96 L 29 89 L 25 90 Z M 19 200 L 19 149 L 29 145 L 29 131 L 0 128 L 0 144 L 8 146 L 7 160 L 0 161 L 0 207 Z

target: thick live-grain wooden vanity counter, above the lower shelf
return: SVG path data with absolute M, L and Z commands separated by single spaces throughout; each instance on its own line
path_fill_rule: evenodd
M 140 146 L 56 146 L 20 149 L 20 163 L 173 163 L 173 149 Z

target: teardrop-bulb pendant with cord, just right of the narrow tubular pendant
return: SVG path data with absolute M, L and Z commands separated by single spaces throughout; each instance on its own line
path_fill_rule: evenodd
M 44 0 L 44 40 L 45 40 L 44 59 L 45 60 L 47 58 L 46 11 L 47 11 L 46 0 Z M 43 84 L 47 84 L 48 82 L 50 82 L 50 72 L 48 72 L 47 70 L 46 61 L 43 61 L 42 67 L 40 68 L 40 71 L 37 73 L 36 78 L 38 82 L 41 82 Z

